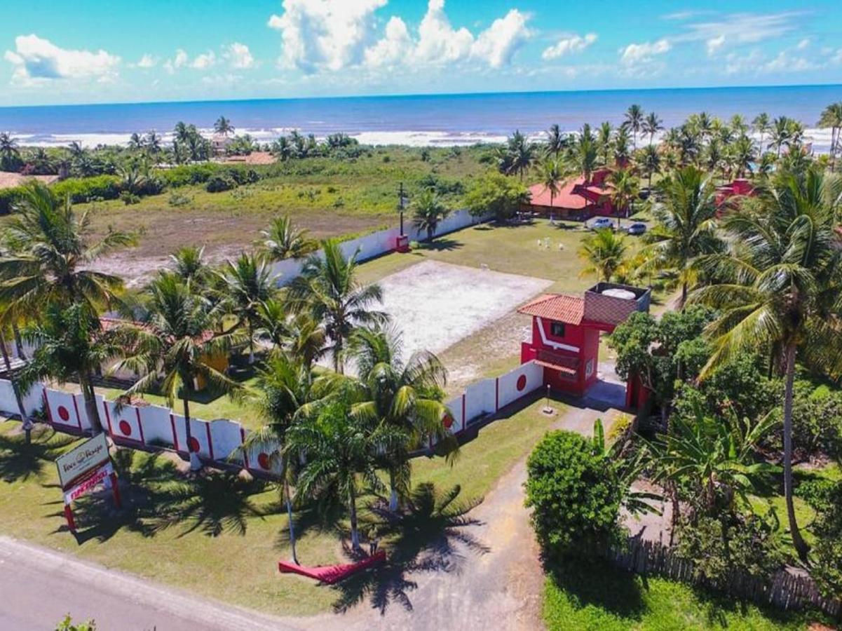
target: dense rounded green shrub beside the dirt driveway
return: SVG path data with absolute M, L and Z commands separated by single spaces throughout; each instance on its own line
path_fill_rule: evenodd
M 552 558 L 593 554 L 620 535 L 621 484 L 610 458 L 570 431 L 544 436 L 526 463 L 526 505 Z

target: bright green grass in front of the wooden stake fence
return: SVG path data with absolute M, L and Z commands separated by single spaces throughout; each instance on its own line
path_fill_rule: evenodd
M 813 616 L 760 609 L 657 577 L 602 564 L 578 564 L 546 579 L 544 620 L 549 631 L 666 631 L 807 629 Z

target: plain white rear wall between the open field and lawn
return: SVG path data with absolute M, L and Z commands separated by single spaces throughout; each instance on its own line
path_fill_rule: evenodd
M 427 233 L 418 230 L 413 226 L 412 217 L 408 213 L 404 214 L 404 229 L 407 231 L 410 241 L 426 241 Z M 456 230 L 461 230 L 463 227 L 472 226 L 474 224 L 485 221 L 480 217 L 473 217 L 466 209 L 451 212 L 450 215 L 440 222 L 439 227 L 435 231 L 434 237 L 440 237 L 443 234 L 452 233 Z M 347 258 L 357 254 L 358 261 L 367 259 L 374 259 L 376 256 L 392 252 L 397 243 L 397 237 L 400 235 L 400 227 L 386 228 L 376 233 L 366 234 L 363 237 L 343 241 L 339 244 L 342 249 L 342 254 Z M 317 255 L 322 255 L 322 250 L 318 250 Z M 272 265 L 272 273 L 277 276 L 279 285 L 286 285 L 297 275 L 301 274 L 301 268 L 304 265 L 304 259 L 287 259 L 274 263 Z

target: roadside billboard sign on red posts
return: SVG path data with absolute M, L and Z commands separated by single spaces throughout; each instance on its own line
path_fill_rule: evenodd
M 67 527 L 76 531 L 72 503 L 88 494 L 99 484 L 111 487 L 114 504 L 120 508 L 120 489 L 117 486 L 117 473 L 111 465 L 108 441 L 104 432 L 84 441 L 78 447 L 61 455 L 56 460 L 61 492 L 64 494 L 64 516 Z

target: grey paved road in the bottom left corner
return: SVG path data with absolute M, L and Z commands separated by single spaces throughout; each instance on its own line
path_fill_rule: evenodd
M 0 595 L 3 631 L 49 631 L 67 613 L 95 618 L 99 631 L 294 628 L 3 536 Z

